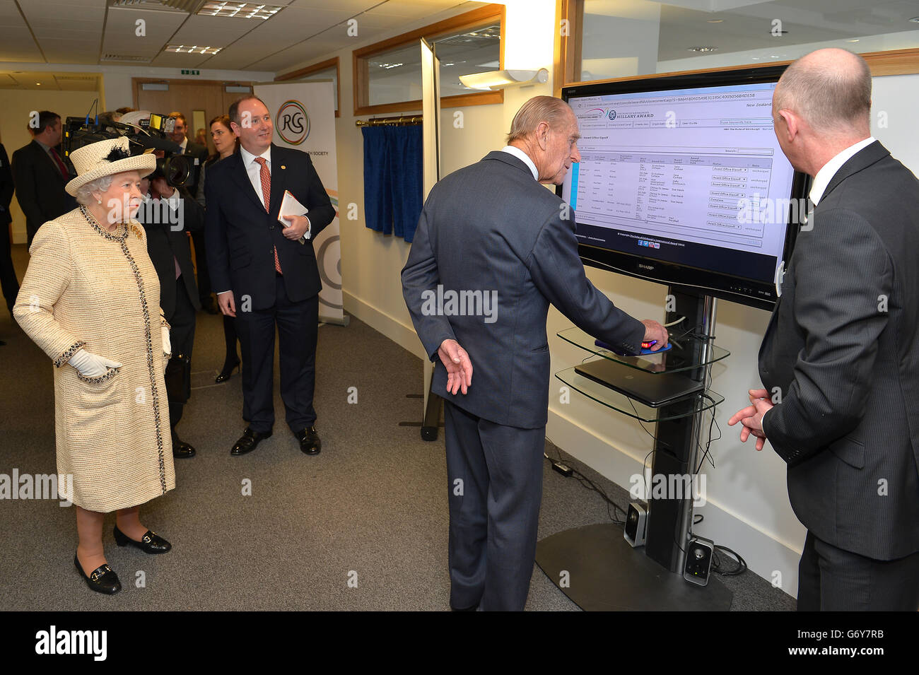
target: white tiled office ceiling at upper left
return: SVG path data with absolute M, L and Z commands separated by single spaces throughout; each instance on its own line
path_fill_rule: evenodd
M 345 47 L 366 44 L 394 28 L 463 6 L 463 0 L 268 0 L 282 6 L 268 19 L 199 16 L 168 0 L 0 0 L 0 62 L 142 64 L 279 72 Z M 188 4 L 188 3 L 186 3 Z M 347 35 L 357 20 L 357 36 Z M 137 35 L 142 21 L 145 35 Z M 167 52 L 167 44 L 219 47 L 218 54 Z M 36 73 L 0 73 L 0 87 Z M 22 75 L 19 77 L 19 75 Z M 28 76 L 27 76 L 28 75 Z M 41 86 L 67 88 L 52 75 Z M 6 78 L 6 79 L 5 79 Z M 62 85 L 63 84 L 63 85 Z

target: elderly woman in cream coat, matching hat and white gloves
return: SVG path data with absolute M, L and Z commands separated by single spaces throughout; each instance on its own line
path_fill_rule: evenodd
M 164 369 L 169 327 L 143 228 L 141 177 L 152 154 L 131 157 L 125 138 L 71 153 L 66 190 L 81 204 L 41 226 L 14 316 L 54 365 L 57 470 L 73 475 L 74 564 L 94 591 L 117 593 L 102 545 L 117 512 L 119 546 L 165 553 L 141 524 L 139 505 L 176 487 Z M 66 483 L 66 481 L 64 481 Z

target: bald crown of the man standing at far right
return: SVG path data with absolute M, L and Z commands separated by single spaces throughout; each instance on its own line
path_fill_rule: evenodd
M 818 134 L 867 134 L 871 114 L 871 71 L 851 51 L 811 51 L 782 73 L 774 112 L 791 110 Z

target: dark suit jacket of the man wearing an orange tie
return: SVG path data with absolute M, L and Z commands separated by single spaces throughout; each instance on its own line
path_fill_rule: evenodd
M 311 234 L 306 243 L 292 242 L 281 233 L 278 211 L 285 190 L 309 209 Z M 243 296 L 252 298 L 252 309 L 273 307 L 276 247 L 291 301 L 312 298 L 322 290 L 312 242 L 335 218 L 335 208 L 309 154 L 272 144 L 268 212 L 249 182 L 240 152 L 208 167 L 204 193 L 208 266 L 215 293 L 233 290 L 237 310 Z

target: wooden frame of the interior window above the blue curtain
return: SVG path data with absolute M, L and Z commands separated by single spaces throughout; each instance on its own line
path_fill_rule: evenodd
M 354 81 L 354 116 L 376 115 L 377 113 L 403 112 L 410 110 L 421 110 L 421 101 L 400 101 L 396 103 L 381 103 L 376 106 L 369 105 L 369 57 L 380 54 L 384 51 L 390 51 L 396 47 L 410 45 L 413 42 L 425 38 L 433 42 L 435 39 L 454 33 L 463 28 L 472 28 L 481 25 L 490 19 L 499 19 L 501 21 L 501 53 L 499 56 L 499 70 L 505 66 L 505 6 L 504 5 L 486 5 L 473 9 L 471 12 L 460 14 L 436 24 L 418 28 L 394 38 L 384 39 L 367 47 L 351 52 L 353 65 Z M 482 92 L 476 94 L 459 94 L 457 96 L 444 96 L 440 99 L 441 107 L 460 107 L 460 106 L 485 106 L 493 103 L 504 103 L 504 90 Z

